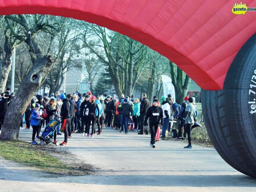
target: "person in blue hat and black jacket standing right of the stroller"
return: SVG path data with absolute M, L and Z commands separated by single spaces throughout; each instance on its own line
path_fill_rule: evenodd
M 68 124 L 70 121 L 70 103 L 69 103 L 69 100 L 66 99 L 66 95 L 64 93 L 62 93 L 60 95 L 60 99 L 63 102 L 62 107 L 61 107 L 60 117 L 62 117 L 61 126 L 62 126 L 62 130 L 64 132 L 64 142 L 62 142 L 60 145 L 67 145 Z

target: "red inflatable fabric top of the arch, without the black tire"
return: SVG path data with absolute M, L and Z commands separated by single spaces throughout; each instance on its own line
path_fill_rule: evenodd
M 256 0 L 245 0 L 256 7 Z M 169 58 L 201 88 L 221 90 L 231 62 L 256 32 L 237 0 L 0 0 L 0 14 L 50 14 L 125 34 Z

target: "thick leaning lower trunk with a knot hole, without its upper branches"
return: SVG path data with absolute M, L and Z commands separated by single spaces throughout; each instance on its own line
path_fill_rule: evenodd
M 15 98 L 7 109 L 0 139 L 18 139 L 21 117 L 25 113 L 27 105 L 32 100 L 35 92 L 41 86 L 44 77 L 52 67 L 53 62 L 49 56 L 37 59 L 34 66 L 20 84 Z

